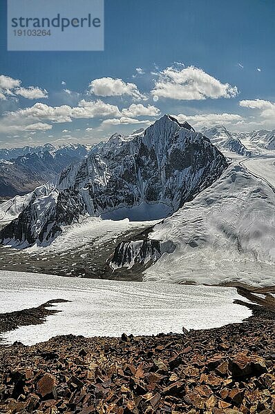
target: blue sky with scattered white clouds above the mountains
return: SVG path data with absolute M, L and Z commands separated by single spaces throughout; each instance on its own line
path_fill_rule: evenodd
M 274 0 L 105 0 L 104 52 L 8 52 L 5 3 L 1 147 L 93 143 L 164 113 L 275 128 Z

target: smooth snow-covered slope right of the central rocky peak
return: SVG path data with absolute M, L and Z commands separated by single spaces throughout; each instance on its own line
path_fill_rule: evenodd
M 176 249 L 144 272 L 146 282 L 275 282 L 275 194 L 236 164 L 149 236 Z

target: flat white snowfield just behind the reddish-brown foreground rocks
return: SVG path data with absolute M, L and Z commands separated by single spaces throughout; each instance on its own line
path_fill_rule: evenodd
M 39 306 L 50 299 L 61 313 L 46 323 L 23 326 L 3 336 L 6 342 L 35 344 L 55 335 L 120 336 L 182 332 L 241 322 L 251 315 L 234 288 L 131 283 L 0 271 L 0 312 Z

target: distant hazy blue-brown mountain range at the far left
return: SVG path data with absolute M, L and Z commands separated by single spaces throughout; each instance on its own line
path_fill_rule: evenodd
M 40 147 L 35 147 L 35 152 L 27 153 L 26 150 L 34 148 L 0 150 L 0 155 L 6 153 L 6 159 L 0 159 L 0 197 L 9 198 L 29 193 L 37 186 L 53 179 L 68 164 L 75 163 L 88 154 L 88 148 L 80 145 L 56 149 L 46 144 L 41 147 L 40 152 L 38 148 Z M 8 158 L 20 151 L 22 155 L 17 158 Z

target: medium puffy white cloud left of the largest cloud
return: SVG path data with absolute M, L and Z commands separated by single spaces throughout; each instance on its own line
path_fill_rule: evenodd
M 99 97 L 117 97 L 122 95 L 129 95 L 133 99 L 146 99 L 138 90 L 135 83 L 126 83 L 122 79 L 113 79 L 111 77 L 103 77 L 94 79 L 89 84 L 90 93 Z

